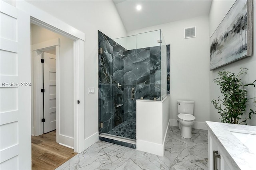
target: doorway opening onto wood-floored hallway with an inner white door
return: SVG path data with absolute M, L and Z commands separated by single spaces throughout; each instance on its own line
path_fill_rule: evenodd
M 31 24 L 32 168 L 75 155 L 73 43 Z

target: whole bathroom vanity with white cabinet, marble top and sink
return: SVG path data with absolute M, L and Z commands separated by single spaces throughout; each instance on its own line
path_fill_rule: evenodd
M 252 170 L 256 160 L 256 126 L 206 121 L 209 170 Z

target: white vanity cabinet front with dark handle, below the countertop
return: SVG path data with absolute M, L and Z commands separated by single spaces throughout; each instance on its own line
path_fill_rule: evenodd
M 224 148 L 218 143 L 210 131 L 208 132 L 208 139 L 209 170 L 234 170 L 235 168 L 224 153 Z

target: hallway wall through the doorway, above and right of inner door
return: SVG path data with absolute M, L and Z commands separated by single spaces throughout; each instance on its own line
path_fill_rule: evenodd
M 71 139 L 74 138 L 73 113 L 73 40 L 39 27 L 31 26 L 31 45 L 60 38 L 60 129 L 59 133 Z M 61 143 L 73 147 L 74 142 Z

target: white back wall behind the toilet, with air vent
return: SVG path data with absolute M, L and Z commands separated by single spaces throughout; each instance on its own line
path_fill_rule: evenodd
M 194 100 L 196 128 L 209 121 L 209 27 L 208 16 L 175 21 L 128 32 L 128 35 L 162 29 L 170 44 L 170 119 L 176 123 L 177 100 Z M 184 39 L 184 28 L 196 26 L 196 37 Z M 175 120 L 175 121 L 174 121 Z

